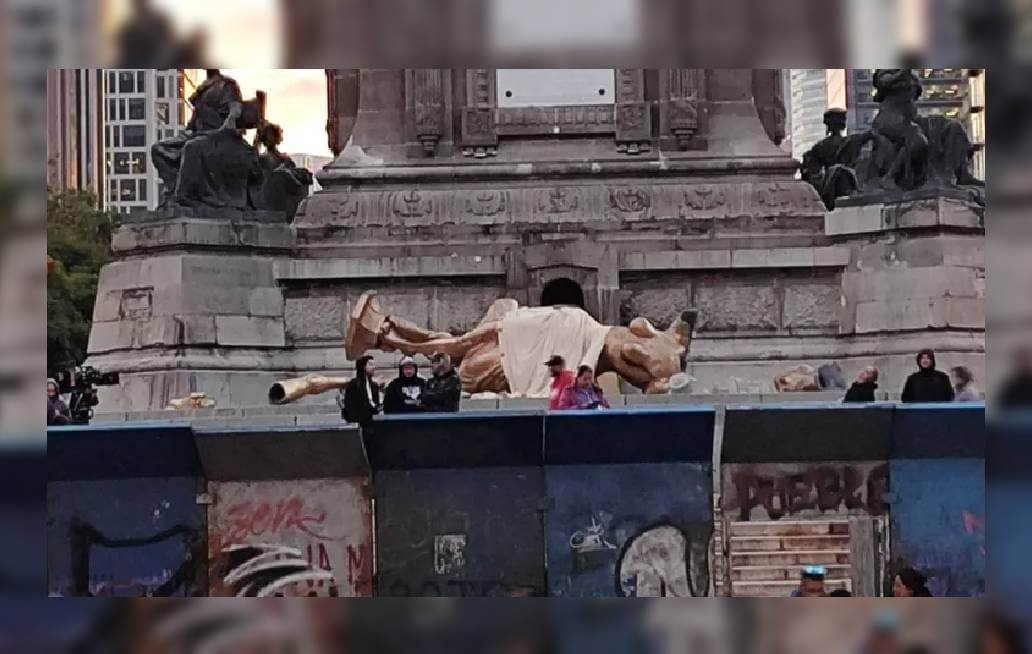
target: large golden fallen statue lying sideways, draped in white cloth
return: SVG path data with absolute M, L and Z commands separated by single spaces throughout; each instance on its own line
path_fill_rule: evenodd
M 534 379 L 538 371 L 546 375 L 545 359 L 513 361 L 505 354 L 508 341 L 518 334 L 516 329 L 530 329 L 531 325 L 547 325 L 548 314 L 557 312 L 566 324 L 580 324 L 576 333 L 558 334 L 566 347 L 585 353 L 586 359 L 575 361 L 567 357 L 568 365 L 591 365 L 598 374 L 615 372 L 627 383 L 646 393 L 666 393 L 671 389 L 671 378 L 684 371 L 685 357 L 691 346 L 691 332 L 697 314 L 684 312 L 665 331 L 653 327 L 648 320 L 636 318 L 627 327 L 607 327 L 591 319 L 582 308 L 574 306 L 520 307 L 516 300 L 496 300 L 480 324 L 464 334 L 454 336 L 444 332 L 423 329 L 402 318 L 389 315 L 380 305 L 375 291 L 363 293 L 351 313 L 345 350 L 349 359 L 356 359 L 369 350 L 400 352 L 408 356 L 444 353 L 458 361 L 462 389 L 474 393 L 513 393 L 540 395 L 541 379 Z M 527 321 L 531 322 L 527 322 Z M 537 322 L 534 322 L 537 321 Z M 555 324 L 553 322 L 553 324 Z M 527 339 L 547 341 L 551 337 L 547 327 L 541 332 L 526 334 Z M 593 349 L 588 341 L 598 339 Z M 545 346 L 546 348 L 548 346 Z M 545 352 L 546 350 L 541 350 Z M 589 353 L 589 354 L 588 354 Z M 540 352 L 539 352 L 540 354 Z M 508 357 L 512 359 L 513 357 Z M 510 380 L 513 377 L 514 380 Z M 518 383 L 514 383 L 518 382 Z

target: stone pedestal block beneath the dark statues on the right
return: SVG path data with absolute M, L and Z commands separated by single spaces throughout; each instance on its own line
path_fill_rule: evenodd
M 985 379 L 985 226 L 981 207 L 963 197 L 850 198 L 826 218 L 825 233 L 852 252 L 840 334 L 877 344 L 871 362 L 891 384 L 915 369 L 923 348 L 935 349 L 940 367 L 966 365 Z

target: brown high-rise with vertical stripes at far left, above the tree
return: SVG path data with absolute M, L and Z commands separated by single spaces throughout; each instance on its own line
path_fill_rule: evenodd
M 46 186 L 101 197 L 103 72 L 46 71 Z

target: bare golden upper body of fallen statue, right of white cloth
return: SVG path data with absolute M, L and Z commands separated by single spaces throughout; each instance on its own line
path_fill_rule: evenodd
M 643 390 L 665 393 L 670 390 L 670 378 L 684 371 L 697 318 L 696 312 L 684 312 L 665 331 L 656 329 L 645 318 L 631 321 L 626 340 L 620 345 L 622 361 L 619 363 L 642 368 L 648 373 L 650 381 Z

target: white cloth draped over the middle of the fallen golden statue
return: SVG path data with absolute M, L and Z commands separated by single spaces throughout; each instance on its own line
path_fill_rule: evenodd
M 507 313 L 501 320 L 502 367 L 513 395 L 547 397 L 551 378 L 545 361 L 559 355 L 567 367 L 594 368 L 609 327 L 576 306 L 536 306 Z

